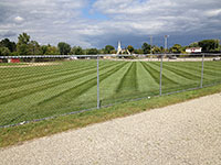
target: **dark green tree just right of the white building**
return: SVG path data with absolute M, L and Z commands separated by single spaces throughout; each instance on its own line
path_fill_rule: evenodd
M 202 52 L 215 52 L 219 51 L 219 40 L 203 40 L 199 42 L 199 46 L 202 47 Z

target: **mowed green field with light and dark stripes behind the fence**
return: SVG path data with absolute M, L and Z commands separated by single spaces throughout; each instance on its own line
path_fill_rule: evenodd
M 102 106 L 159 95 L 159 62 L 99 62 Z M 0 125 L 96 107 L 96 61 L 0 68 Z M 162 94 L 200 86 L 201 62 L 164 62 Z M 221 81 L 204 62 L 203 84 Z

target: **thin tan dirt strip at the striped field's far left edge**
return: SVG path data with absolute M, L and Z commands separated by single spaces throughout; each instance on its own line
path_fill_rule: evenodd
M 21 64 L 23 64 L 23 65 L 0 66 L 0 68 L 14 68 L 14 67 L 33 67 L 33 66 L 61 65 L 61 63 L 21 63 Z

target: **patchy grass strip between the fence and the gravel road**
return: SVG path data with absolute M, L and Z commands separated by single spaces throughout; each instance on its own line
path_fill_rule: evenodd
M 0 129 L 0 147 L 22 144 L 36 138 L 52 135 L 67 130 L 84 128 L 90 124 L 108 121 L 116 118 L 183 102 L 207 95 L 221 92 L 221 85 L 202 89 L 185 91 L 162 97 L 152 97 L 139 101 L 130 101 L 99 110 L 92 110 L 77 114 L 57 117 L 55 119 L 28 123 L 20 127 Z

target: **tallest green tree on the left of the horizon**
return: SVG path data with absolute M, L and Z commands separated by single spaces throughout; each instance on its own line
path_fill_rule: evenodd
M 30 35 L 27 33 L 22 33 L 19 35 L 19 41 L 17 43 L 17 51 L 19 55 L 28 55 L 30 53 L 29 43 L 30 43 Z

